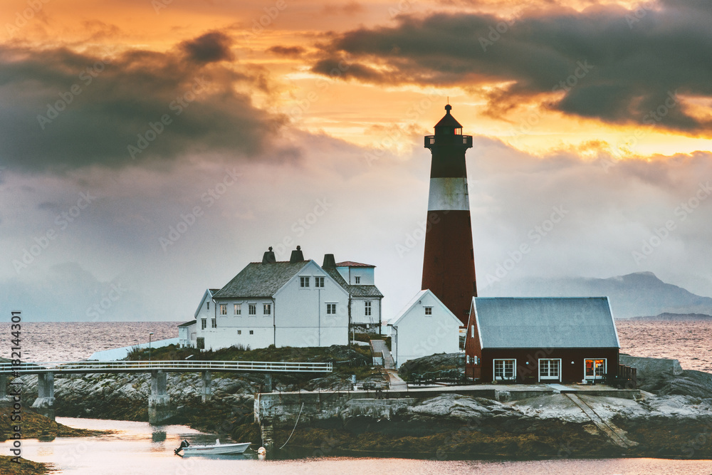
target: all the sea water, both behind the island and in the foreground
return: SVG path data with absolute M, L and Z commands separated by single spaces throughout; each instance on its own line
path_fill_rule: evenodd
M 24 361 L 76 361 L 99 350 L 177 337 L 180 322 L 22 323 Z M 617 320 L 622 353 L 673 358 L 685 370 L 712 372 L 712 321 Z M 0 323 L 0 356 L 10 357 L 10 323 Z M 16 342 L 15 342 L 16 343 Z M 686 459 L 436 460 L 392 456 L 343 456 L 328 450 L 287 452 L 258 459 L 242 456 L 179 457 L 182 439 L 211 443 L 204 434 L 181 425 L 57 417 L 70 427 L 110 429 L 100 437 L 23 440 L 23 457 L 53 464 L 57 474 L 712 474 L 712 461 Z M 712 443 L 712 437 L 706 437 Z M 9 454 L 9 442 L 0 454 Z M 15 472 L 15 473 L 21 473 Z M 4 475 L 4 474 L 0 474 Z

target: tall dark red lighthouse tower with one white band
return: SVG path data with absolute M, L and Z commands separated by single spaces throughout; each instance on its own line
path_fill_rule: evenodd
M 465 167 L 472 136 L 462 135 L 462 125 L 450 114 L 451 105 L 445 110 L 435 135 L 425 137 L 433 158 L 422 289 L 430 289 L 467 325 L 472 297 L 477 296 Z

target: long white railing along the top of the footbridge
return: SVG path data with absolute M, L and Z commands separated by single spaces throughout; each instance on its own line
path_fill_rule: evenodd
M 332 363 L 274 361 L 53 361 L 0 363 L 0 374 L 36 374 L 40 372 L 332 372 Z

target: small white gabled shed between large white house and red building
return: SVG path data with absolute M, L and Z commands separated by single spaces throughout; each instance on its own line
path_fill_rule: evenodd
M 461 324 L 434 293 L 418 292 L 388 324 L 397 367 L 422 356 L 459 352 Z

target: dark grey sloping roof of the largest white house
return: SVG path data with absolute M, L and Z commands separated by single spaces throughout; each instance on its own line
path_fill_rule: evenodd
M 248 263 L 226 286 L 217 291 L 213 298 L 272 297 L 308 262 Z

